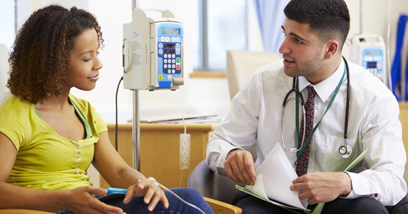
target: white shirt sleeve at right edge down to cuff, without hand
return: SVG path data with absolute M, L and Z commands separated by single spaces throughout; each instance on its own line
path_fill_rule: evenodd
M 398 116 L 399 106 L 393 95 L 377 99 L 369 106 L 361 133 L 368 169 L 347 172 L 353 190 L 345 198 L 368 196 L 388 206 L 397 204 L 406 195 L 403 179 L 406 154 Z

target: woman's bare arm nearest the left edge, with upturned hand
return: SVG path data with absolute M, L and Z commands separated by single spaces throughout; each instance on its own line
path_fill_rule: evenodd
M 0 132 L 0 208 L 25 208 L 44 211 L 70 209 L 78 213 L 122 213 L 118 207 L 106 205 L 92 196 L 105 195 L 106 190 L 84 186 L 74 190 L 32 190 L 6 183 L 17 156 L 17 149 Z

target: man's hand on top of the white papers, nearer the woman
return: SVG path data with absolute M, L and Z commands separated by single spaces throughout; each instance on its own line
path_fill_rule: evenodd
M 226 156 L 225 172 L 237 183 L 253 185 L 257 179 L 252 154 L 249 151 L 235 149 Z

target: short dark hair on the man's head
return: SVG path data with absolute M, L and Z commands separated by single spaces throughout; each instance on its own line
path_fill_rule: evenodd
M 343 0 L 291 0 L 284 12 L 288 19 L 309 23 L 321 42 L 337 36 L 339 49 L 343 48 L 350 30 L 350 15 Z

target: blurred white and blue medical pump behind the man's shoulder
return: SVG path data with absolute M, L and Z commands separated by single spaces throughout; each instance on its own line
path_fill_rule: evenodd
M 351 38 L 350 60 L 385 81 L 386 45 L 378 35 L 361 34 Z

